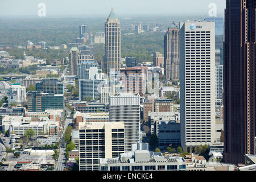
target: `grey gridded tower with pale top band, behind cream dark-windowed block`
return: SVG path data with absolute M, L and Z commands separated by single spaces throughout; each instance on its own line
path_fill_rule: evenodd
M 137 134 L 141 128 L 139 94 L 118 94 L 109 96 L 109 121 L 125 123 L 125 151 L 131 151 L 131 145 L 137 143 Z

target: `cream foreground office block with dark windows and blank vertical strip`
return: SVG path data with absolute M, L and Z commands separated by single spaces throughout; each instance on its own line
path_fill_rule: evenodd
M 79 123 L 79 170 L 99 171 L 100 158 L 117 158 L 125 151 L 123 122 Z

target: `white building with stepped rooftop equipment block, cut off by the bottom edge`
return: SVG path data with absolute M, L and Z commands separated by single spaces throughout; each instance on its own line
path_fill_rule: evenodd
M 183 171 L 185 159 L 179 156 L 163 156 L 134 144 L 131 152 L 120 154 L 117 158 L 100 159 L 101 171 Z

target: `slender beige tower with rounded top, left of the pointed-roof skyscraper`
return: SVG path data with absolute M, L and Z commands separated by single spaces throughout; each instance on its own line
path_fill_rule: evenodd
M 77 75 L 77 65 L 79 60 L 79 50 L 72 47 L 69 52 L 69 75 Z

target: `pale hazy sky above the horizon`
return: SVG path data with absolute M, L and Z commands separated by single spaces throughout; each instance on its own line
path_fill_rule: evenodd
M 38 15 L 38 4 L 46 5 L 46 16 L 109 14 L 202 14 L 216 3 L 224 14 L 225 0 L 0 0 L 0 16 Z

